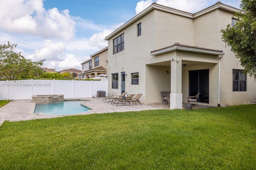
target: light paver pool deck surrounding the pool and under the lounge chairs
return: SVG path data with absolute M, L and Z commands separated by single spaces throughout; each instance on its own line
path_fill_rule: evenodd
M 74 100 L 74 99 L 64 99 L 64 100 Z M 150 104 L 140 106 L 140 104 L 118 104 L 118 106 L 107 104 L 108 102 L 102 102 L 102 98 L 77 98 L 75 100 L 89 100 L 81 101 L 87 107 L 90 107 L 92 110 L 89 110 L 84 113 L 72 114 L 72 115 L 88 115 L 93 113 L 112 113 L 112 112 L 124 112 L 124 111 L 142 111 L 142 110 L 156 110 L 156 109 L 169 109 L 170 107 L 165 104 Z M 32 100 L 13 100 L 12 102 L 6 104 L 0 108 L 0 125 L 4 121 L 24 121 L 31 119 L 43 119 L 43 118 L 54 118 L 54 117 L 63 117 L 69 115 L 49 115 L 49 114 L 36 114 L 34 113 L 35 104 L 32 103 Z M 205 106 L 200 106 L 196 108 L 202 108 Z M 195 108 L 193 106 L 193 108 Z

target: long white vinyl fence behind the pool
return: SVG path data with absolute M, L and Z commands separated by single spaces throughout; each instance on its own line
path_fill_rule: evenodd
M 64 94 L 64 98 L 90 98 L 106 91 L 107 81 L 6 80 L 0 81 L 0 100 L 31 99 L 32 95 Z

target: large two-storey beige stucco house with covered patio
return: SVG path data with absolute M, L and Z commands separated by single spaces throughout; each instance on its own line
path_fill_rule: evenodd
M 143 103 L 157 104 L 170 91 L 171 109 L 198 92 L 206 106 L 256 102 L 254 79 L 221 39 L 238 10 L 217 2 L 191 14 L 153 2 L 105 38 L 109 92 L 141 93 Z

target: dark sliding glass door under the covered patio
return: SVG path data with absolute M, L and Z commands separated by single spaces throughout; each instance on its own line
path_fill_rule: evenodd
M 209 103 L 209 69 L 189 71 L 189 96 L 198 93 L 198 102 Z

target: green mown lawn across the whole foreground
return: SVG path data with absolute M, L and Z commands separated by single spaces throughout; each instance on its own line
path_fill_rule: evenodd
M 254 169 L 256 105 L 4 122 L 0 144 L 2 169 Z

